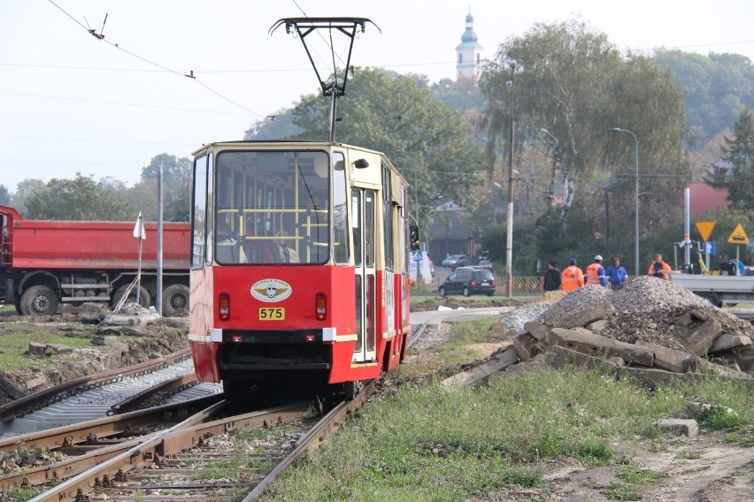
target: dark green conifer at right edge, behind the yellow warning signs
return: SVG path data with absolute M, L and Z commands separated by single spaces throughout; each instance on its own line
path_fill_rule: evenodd
M 725 138 L 720 152 L 720 161 L 712 164 L 712 168 L 722 177 L 710 184 L 726 187 L 728 201 L 754 207 L 754 118 L 751 110 L 742 110 L 734 125 L 734 137 Z

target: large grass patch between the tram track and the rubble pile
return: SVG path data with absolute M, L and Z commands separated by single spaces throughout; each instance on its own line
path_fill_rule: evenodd
M 475 343 L 484 332 L 482 324 L 454 336 Z M 712 379 L 650 392 L 627 379 L 573 368 L 518 372 L 480 387 L 447 388 L 441 378 L 427 376 L 400 392 L 389 387 L 289 470 L 265 499 L 495 498 L 504 486 L 542 486 L 536 461 L 571 456 L 587 466 L 624 466 L 621 481 L 604 496 L 635 500 L 661 473 L 632 467 L 612 449 L 613 441 L 672 441 L 656 422 L 680 416 L 694 399 L 725 401 L 742 410 L 737 427 L 754 424 L 750 391 Z

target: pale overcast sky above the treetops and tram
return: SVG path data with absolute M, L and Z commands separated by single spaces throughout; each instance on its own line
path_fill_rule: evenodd
M 352 65 L 455 79 L 469 10 L 487 58 L 536 22 L 579 19 L 619 49 L 754 60 L 751 0 L 0 0 L 0 185 L 76 172 L 133 185 L 153 156 L 242 139 L 319 92 L 301 42 L 268 34 L 281 18 L 371 19 L 382 33 L 366 27 Z

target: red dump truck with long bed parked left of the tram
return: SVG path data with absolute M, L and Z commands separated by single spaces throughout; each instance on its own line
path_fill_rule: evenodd
M 139 270 L 135 222 L 85 222 L 23 219 L 0 206 L 0 303 L 24 316 L 55 314 L 61 303 L 103 302 L 108 307 L 127 292 Z M 156 223 L 145 223 L 139 303 L 149 307 L 157 295 Z M 191 225 L 163 224 L 165 316 L 188 307 Z M 136 288 L 129 299 L 136 298 Z

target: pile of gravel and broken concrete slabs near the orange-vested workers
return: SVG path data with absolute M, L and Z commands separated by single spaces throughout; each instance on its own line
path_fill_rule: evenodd
M 754 366 L 754 325 L 657 278 L 636 278 L 616 292 L 586 285 L 529 313 L 538 316 L 526 321 L 524 310 L 503 319 L 517 331 L 521 361 L 557 347 L 570 362 L 593 356 L 616 368 L 745 377 Z

